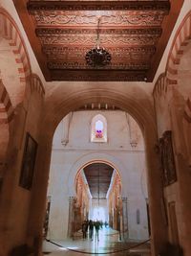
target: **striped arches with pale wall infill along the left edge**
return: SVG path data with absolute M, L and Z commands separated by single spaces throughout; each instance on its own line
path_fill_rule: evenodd
M 24 100 L 31 75 L 31 64 L 24 40 L 9 12 L 0 7 L 0 175 L 7 164 L 6 153 L 11 137 L 15 107 Z M 12 65 L 12 63 L 14 63 Z

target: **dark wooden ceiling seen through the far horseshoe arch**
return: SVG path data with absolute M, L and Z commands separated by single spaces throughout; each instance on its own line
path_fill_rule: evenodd
M 84 168 L 93 198 L 106 198 L 114 169 L 103 163 L 94 163 Z

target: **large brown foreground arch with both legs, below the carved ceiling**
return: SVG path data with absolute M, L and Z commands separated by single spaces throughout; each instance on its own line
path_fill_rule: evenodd
M 66 93 L 67 86 L 69 87 L 68 93 Z M 135 88 L 133 84 L 128 84 L 127 86 L 121 83 L 110 83 L 110 87 L 108 87 L 101 82 L 95 84 L 89 84 L 87 82 L 78 84 L 75 87 L 74 84 L 69 83 L 65 84 L 65 88 L 63 88 L 64 86 L 55 86 L 52 88 L 52 94 L 47 97 L 45 105 L 44 120 L 42 123 L 43 136 L 41 137 L 37 155 L 36 173 L 32 190 L 32 206 L 29 223 L 29 230 L 32 237 L 41 238 L 54 129 L 66 114 L 77 107 L 87 103 L 103 101 L 117 105 L 130 113 L 136 119 L 142 130 L 148 168 L 147 177 L 151 212 L 152 248 L 153 253 L 159 252 L 166 241 L 166 226 L 159 203 L 161 201 L 160 198 L 162 198 L 162 185 L 159 154 L 156 151 L 158 141 L 152 99 L 149 99 L 144 90 L 140 89 L 140 87 Z M 144 108 L 142 105 L 144 105 Z M 35 224 L 33 224 L 34 222 Z M 160 223 L 160 226 L 157 228 L 155 226 L 156 222 Z

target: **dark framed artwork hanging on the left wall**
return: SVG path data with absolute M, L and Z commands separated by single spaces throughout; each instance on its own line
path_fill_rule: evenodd
M 19 186 L 28 190 L 32 187 L 37 146 L 36 141 L 32 138 L 30 133 L 27 132 Z

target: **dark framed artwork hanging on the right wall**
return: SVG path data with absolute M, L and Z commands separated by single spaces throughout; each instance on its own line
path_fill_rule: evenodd
M 176 166 L 172 145 L 172 131 L 166 130 L 159 139 L 163 184 L 168 186 L 177 180 Z

